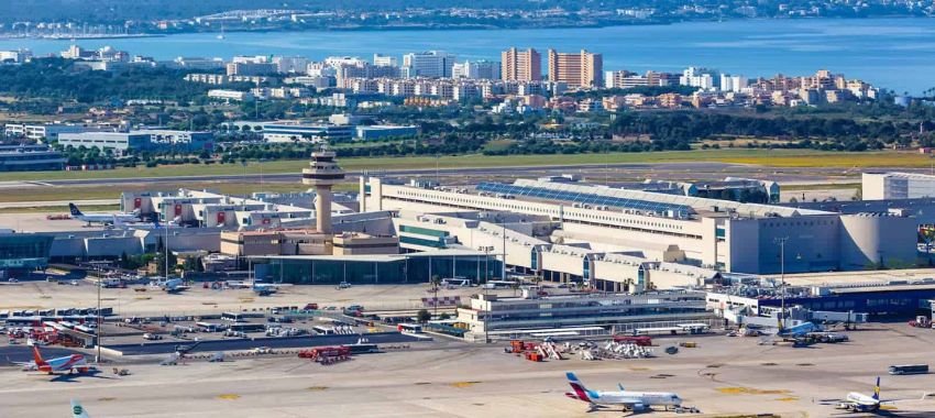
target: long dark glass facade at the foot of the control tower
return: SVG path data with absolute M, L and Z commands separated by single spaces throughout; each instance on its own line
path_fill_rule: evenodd
M 480 282 L 484 277 L 496 277 L 502 268 L 495 256 L 485 260 L 484 255 L 374 260 L 261 257 L 254 263 L 257 278 L 297 285 L 428 283 L 432 276 L 463 277 L 479 283 L 479 277 Z

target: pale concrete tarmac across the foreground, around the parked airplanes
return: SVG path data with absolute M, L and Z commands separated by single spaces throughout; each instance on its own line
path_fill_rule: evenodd
M 872 393 L 882 375 L 887 416 L 933 417 L 935 374 L 889 376 L 890 364 L 924 363 L 935 330 L 872 324 L 849 332 L 851 342 L 807 349 L 760 345 L 757 338 L 692 337 L 696 349 L 664 354 L 686 341 L 656 339 L 658 358 L 534 363 L 502 344 L 450 340 L 410 351 L 367 354 L 324 366 L 297 358 L 189 362 L 178 366 L 120 365 L 89 377 L 51 378 L 0 369 L 3 417 L 67 416 L 69 399 L 95 417 L 619 417 L 586 413 L 564 396 L 565 371 L 593 389 L 671 391 L 697 417 L 776 414 L 832 417 L 831 403 L 848 392 Z M 424 346 L 424 345 L 419 345 Z M 686 416 L 656 411 L 646 416 Z M 849 414 L 848 416 L 861 416 Z

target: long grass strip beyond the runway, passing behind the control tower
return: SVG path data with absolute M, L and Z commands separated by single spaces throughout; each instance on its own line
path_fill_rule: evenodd
M 342 158 L 340 164 L 349 170 L 358 169 L 414 169 L 468 168 L 468 167 L 509 167 L 536 165 L 582 165 L 617 163 L 672 163 L 672 162 L 723 162 L 734 164 L 754 164 L 772 167 L 928 167 L 932 160 L 927 155 L 913 152 L 867 152 L 844 153 L 812 150 L 697 150 L 667 151 L 656 153 L 608 153 L 573 155 L 459 155 L 459 156 L 407 156 L 376 158 Z M 308 161 L 274 161 L 262 164 L 263 173 L 299 173 L 308 166 Z M 183 177 L 210 175 L 258 174 L 260 163 L 212 165 L 175 165 L 154 168 L 119 168 L 106 172 L 26 172 L 0 174 L 4 180 L 58 180 L 72 178 L 139 178 L 139 177 Z

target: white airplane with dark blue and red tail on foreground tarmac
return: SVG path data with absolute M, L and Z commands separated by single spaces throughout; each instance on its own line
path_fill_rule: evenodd
M 682 405 L 679 395 L 670 392 L 631 392 L 625 391 L 623 385 L 617 385 L 620 388 L 617 392 L 591 391 L 584 387 L 584 384 L 578 380 L 574 373 L 566 372 L 565 376 L 574 391 L 565 393 L 565 396 L 588 403 L 588 411 L 608 406 L 623 406 L 624 410 L 629 409 L 638 413 L 651 409 L 653 405 L 664 406 L 667 410 L 670 406 L 680 407 Z

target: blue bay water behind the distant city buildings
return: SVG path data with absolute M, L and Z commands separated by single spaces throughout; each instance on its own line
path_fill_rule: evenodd
M 65 50 L 70 41 L 0 40 L 0 48 L 36 54 Z M 935 19 L 748 20 L 658 26 L 490 31 L 271 32 L 183 34 L 153 38 L 88 40 L 157 59 L 176 56 L 329 55 L 370 58 L 444 50 L 459 59 L 499 59 L 510 45 L 543 53 L 586 48 L 604 54 L 605 69 L 679 72 L 708 66 L 747 77 L 806 75 L 827 68 L 898 92 L 935 87 Z M 546 69 L 546 64 L 542 66 Z

